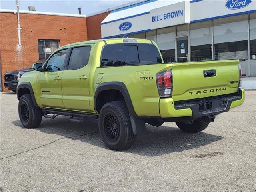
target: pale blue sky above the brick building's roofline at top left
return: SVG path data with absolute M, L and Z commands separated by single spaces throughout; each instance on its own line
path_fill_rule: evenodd
M 136 0 L 20 0 L 20 10 L 34 6 L 36 11 L 78 14 L 91 14 L 108 8 L 120 6 Z M 0 0 L 1 9 L 16 9 L 16 0 Z

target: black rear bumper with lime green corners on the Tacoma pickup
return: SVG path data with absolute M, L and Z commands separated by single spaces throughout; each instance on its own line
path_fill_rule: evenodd
M 218 115 L 227 112 L 230 108 L 242 105 L 244 90 L 239 89 L 237 94 L 201 98 L 174 102 L 172 98 L 160 99 L 159 110 L 162 118 L 189 117 L 200 118 Z

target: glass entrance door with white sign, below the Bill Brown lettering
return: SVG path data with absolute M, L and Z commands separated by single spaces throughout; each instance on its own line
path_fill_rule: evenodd
M 176 37 L 177 62 L 188 61 L 188 36 Z

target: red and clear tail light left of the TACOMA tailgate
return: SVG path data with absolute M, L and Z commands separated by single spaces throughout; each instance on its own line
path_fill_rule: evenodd
M 160 97 L 172 96 L 172 70 L 156 74 L 156 84 Z

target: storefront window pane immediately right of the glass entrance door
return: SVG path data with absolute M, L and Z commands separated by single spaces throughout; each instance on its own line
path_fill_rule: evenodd
M 191 61 L 212 60 L 212 21 L 190 24 Z

